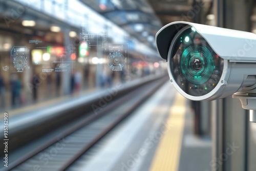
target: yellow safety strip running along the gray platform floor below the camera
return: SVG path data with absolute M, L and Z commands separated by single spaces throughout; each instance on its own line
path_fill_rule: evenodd
M 185 120 L 185 98 L 177 94 L 150 171 L 177 171 Z

